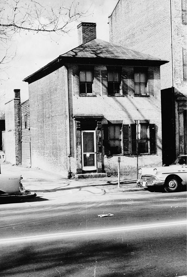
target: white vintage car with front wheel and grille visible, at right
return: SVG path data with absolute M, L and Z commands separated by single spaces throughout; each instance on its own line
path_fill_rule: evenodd
M 170 166 L 144 167 L 139 169 L 141 174 L 138 184 L 142 187 L 163 186 L 166 192 L 175 192 L 186 185 L 187 155 L 180 155 Z

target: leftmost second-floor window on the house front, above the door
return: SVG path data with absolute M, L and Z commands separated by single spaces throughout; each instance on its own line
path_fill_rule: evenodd
M 93 72 L 90 70 L 81 70 L 79 72 L 80 94 L 93 93 Z

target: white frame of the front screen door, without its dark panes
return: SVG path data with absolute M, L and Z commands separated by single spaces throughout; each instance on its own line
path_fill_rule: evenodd
M 83 133 L 93 133 L 93 139 L 94 139 L 94 152 L 83 152 Z M 86 130 L 86 131 L 81 131 L 81 146 L 82 146 L 82 151 L 81 151 L 81 156 L 82 156 L 82 170 L 84 171 L 91 171 L 91 170 L 96 170 L 97 169 L 97 153 L 96 153 L 96 131 L 95 130 Z M 95 166 L 84 166 L 84 154 L 89 153 L 89 154 L 94 154 L 94 162 Z

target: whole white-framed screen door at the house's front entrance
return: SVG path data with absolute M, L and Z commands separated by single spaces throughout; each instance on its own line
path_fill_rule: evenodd
M 82 169 L 96 170 L 96 131 L 82 131 Z

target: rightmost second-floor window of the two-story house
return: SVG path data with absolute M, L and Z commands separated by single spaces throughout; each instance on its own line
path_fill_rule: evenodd
M 147 72 L 144 69 L 134 69 L 135 95 L 148 95 Z

